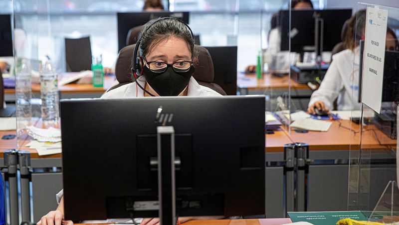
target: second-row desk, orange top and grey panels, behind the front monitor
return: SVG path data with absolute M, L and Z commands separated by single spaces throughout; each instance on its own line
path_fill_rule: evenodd
M 289 133 L 282 126 L 274 134 L 265 135 L 267 217 L 285 217 L 283 145 L 292 142 L 308 143 L 310 146 L 309 159 L 311 160 L 331 161 L 327 164 L 311 163 L 309 165 L 307 210 L 347 210 L 349 149 L 359 149 L 360 134 L 345 129 L 344 126 L 352 126 L 352 130 L 355 131 L 360 129 L 359 125 L 350 121 L 341 121 L 341 127 L 338 122 L 334 121 L 328 132 L 296 133 L 291 131 Z M 372 128 L 373 126 L 368 126 L 365 129 Z M 15 134 L 15 131 L 0 131 L 0 135 L 2 134 Z M 362 147 L 376 149 L 373 151 L 373 157 L 380 159 L 386 159 L 387 156 L 392 157 L 390 148 L 395 148 L 396 140 L 390 139 L 378 129 L 375 129 L 375 132 L 367 131 L 364 135 Z M 15 147 L 15 139 L 0 140 L 0 157 L 3 157 L 4 150 Z M 25 148 L 23 150 L 28 150 L 31 153 L 31 168 L 47 168 L 44 172 L 34 172 L 31 176 L 34 221 L 38 221 L 45 213 L 56 208 L 54 195 L 62 188 L 62 174 L 59 170 L 52 172 L 48 168 L 61 168 L 61 154 L 38 156 L 35 150 Z M 2 161 L 0 161 L 0 165 L 3 165 Z M 384 172 L 386 170 L 380 168 L 372 173 L 378 175 Z

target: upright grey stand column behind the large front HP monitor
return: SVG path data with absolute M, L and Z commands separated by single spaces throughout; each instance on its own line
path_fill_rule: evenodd
M 161 225 L 176 224 L 175 129 L 157 127 L 158 201 Z

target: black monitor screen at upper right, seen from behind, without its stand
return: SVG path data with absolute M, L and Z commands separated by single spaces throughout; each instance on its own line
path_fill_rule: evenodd
M 290 10 L 279 11 L 281 51 L 288 51 Z M 352 15 L 352 9 L 304 9 L 291 10 L 291 51 L 315 51 L 315 19 L 322 18 L 323 51 L 331 51 L 341 42 L 341 31 L 345 21 Z

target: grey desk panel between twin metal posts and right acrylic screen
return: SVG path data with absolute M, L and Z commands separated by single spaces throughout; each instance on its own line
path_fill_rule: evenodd
M 307 211 L 346 211 L 348 171 L 348 165 L 309 166 Z

